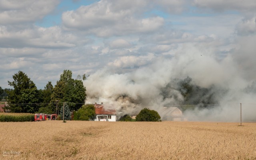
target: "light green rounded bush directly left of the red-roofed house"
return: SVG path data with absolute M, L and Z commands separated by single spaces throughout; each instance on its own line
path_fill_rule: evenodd
M 77 120 L 92 120 L 95 115 L 95 107 L 94 104 L 84 104 L 78 111 L 74 117 L 77 117 Z

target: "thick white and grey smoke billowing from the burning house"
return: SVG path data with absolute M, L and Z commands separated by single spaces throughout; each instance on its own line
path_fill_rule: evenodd
M 178 106 L 188 120 L 236 122 L 242 103 L 243 120 L 256 120 L 255 76 L 243 72 L 236 54 L 220 59 L 211 50 L 189 47 L 126 73 L 103 69 L 91 74 L 84 82 L 86 103 L 113 104 L 119 115 L 138 112 L 144 106 L 154 110 Z

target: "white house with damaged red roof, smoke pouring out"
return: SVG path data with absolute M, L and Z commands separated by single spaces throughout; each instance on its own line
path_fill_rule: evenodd
M 116 122 L 116 110 L 113 109 L 106 109 L 109 108 L 105 105 L 104 108 L 103 103 L 101 104 L 94 104 L 95 107 L 95 116 L 94 121 L 109 121 L 109 122 Z

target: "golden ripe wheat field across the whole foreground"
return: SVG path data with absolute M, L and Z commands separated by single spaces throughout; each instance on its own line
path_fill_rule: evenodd
M 0 122 L 0 159 L 255 160 L 256 123 Z

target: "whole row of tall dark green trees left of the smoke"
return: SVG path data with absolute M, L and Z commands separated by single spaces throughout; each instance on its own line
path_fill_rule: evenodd
M 8 85 L 13 89 L 3 90 L 0 87 L 0 99 L 6 98 L 11 112 L 52 114 L 56 111 L 57 102 L 68 102 L 70 110 L 76 111 L 86 99 L 86 88 L 81 76 L 78 79 L 72 78 L 71 70 L 64 70 L 55 86 L 49 81 L 44 89 L 37 89 L 36 84 L 22 71 L 18 71 L 12 78 Z

